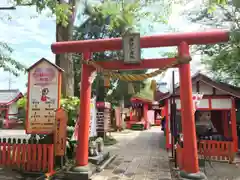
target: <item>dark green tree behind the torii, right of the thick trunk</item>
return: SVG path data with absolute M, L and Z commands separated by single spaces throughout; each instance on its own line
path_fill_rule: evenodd
M 124 6 L 125 7 L 125 6 Z M 129 8 L 129 6 L 127 6 Z M 131 13 L 134 12 L 133 9 L 128 9 L 129 12 L 126 12 L 125 17 L 131 17 Z M 114 17 L 115 12 L 109 12 L 108 16 L 105 16 L 105 4 L 99 4 L 96 6 L 85 6 L 85 11 L 83 15 L 86 16 L 86 20 L 79 26 L 74 29 L 74 39 L 75 40 L 86 40 L 86 39 L 102 39 L 102 38 L 112 38 L 112 37 L 120 37 L 122 33 L 125 32 L 127 28 L 131 28 L 134 25 L 133 20 L 116 20 L 114 24 L 109 19 L 109 16 Z M 114 27 L 114 28 L 112 28 Z M 111 51 L 111 52 L 100 52 L 100 53 L 93 53 L 93 59 L 97 61 L 101 60 L 118 60 L 122 59 L 123 54 L 122 51 Z M 75 69 L 75 92 L 79 94 L 79 87 L 78 83 L 80 80 L 80 72 L 81 72 L 81 55 L 74 55 L 74 69 Z M 144 73 L 145 71 L 134 71 L 134 73 Z M 121 73 L 133 73 L 123 71 Z M 128 83 L 121 82 L 121 81 L 111 81 L 111 87 L 109 89 L 105 89 L 103 86 L 103 76 L 98 74 L 96 80 L 93 83 L 93 91 L 98 95 L 98 100 L 108 100 L 111 101 L 113 104 L 119 103 L 123 97 L 129 99 L 131 96 L 128 94 Z M 139 90 L 141 83 L 134 83 L 135 89 Z M 110 94 L 107 93 L 111 92 Z M 76 95 L 77 95 L 76 94 Z M 104 99 L 107 97 L 107 99 Z

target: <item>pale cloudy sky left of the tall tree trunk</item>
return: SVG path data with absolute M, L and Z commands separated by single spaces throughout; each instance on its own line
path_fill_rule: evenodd
M 1 0 L 2 2 L 2 0 Z M 0 5 L 1 6 L 1 5 Z M 54 54 L 50 45 L 55 41 L 54 17 L 47 17 L 48 11 L 41 15 L 36 13 L 35 7 L 18 7 L 16 10 L 1 11 L 0 41 L 7 42 L 13 49 L 13 57 L 21 63 L 30 66 L 42 57 L 54 62 Z M 7 17 L 11 17 L 8 20 Z M 0 87 L 8 88 L 9 73 L 0 71 Z M 19 88 L 25 92 L 27 76 L 12 81 L 11 88 Z

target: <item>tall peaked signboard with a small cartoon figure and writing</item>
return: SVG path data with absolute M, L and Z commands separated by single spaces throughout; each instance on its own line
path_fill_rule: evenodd
M 60 107 L 62 69 L 41 59 L 28 69 L 26 132 L 49 134 Z

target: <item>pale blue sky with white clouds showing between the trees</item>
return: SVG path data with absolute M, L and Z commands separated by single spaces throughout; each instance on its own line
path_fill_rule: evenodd
M 4 0 L 1 0 L 3 2 Z M 2 6 L 0 2 L 0 6 Z M 174 6 L 172 15 L 170 16 L 169 25 L 178 28 L 180 31 L 195 31 L 200 28 L 197 24 L 189 24 L 184 18 L 179 16 L 183 10 L 181 6 Z M 11 20 L 6 17 L 10 15 Z M 51 52 L 50 45 L 55 41 L 55 19 L 49 17 L 47 12 L 38 15 L 35 8 L 18 7 L 13 11 L 1 11 L 0 14 L 0 41 L 7 42 L 13 49 L 13 57 L 30 66 L 42 57 L 54 62 L 54 54 Z M 36 17 L 37 16 L 37 17 Z M 143 21 L 142 27 L 148 25 L 148 21 Z M 142 29 L 146 31 L 146 28 Z M 155 25 L 150 34 L 166 33 L 170 31 L 166 25 Z M 143 32 L 143 31 L 142 31 Z M 154 48 L 144 50 L 145 58 L 160 57 L 160 52 L 171 50 L 169 48 Z M 194 58 L 193 68 L 199 66 L 199 57 Z M 198 65 L 197 65 L 198 64 Z M 196 68 L 194 68 L 196 71 Z M 164 81 L 170 78 L 170 71 L 166 73 Z M 11 76 L 11 88 L 26 91 L 25 84 L 27 76 L 21 74 L 20 77 Z M 8 88 L 9 73 L 0 71 L 0 89 Z

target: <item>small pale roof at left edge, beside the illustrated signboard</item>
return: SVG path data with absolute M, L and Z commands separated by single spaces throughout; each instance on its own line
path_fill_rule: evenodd
M 0 104 L 9 105 L 17 101 L 23 95 L 18 89 L 0 90 Z

